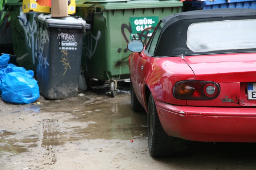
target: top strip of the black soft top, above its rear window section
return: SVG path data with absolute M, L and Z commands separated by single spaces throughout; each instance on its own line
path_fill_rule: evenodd
M 243 17 L 243 16 L 256 16 L 256 9 L 206 9 L 196 10 L 189 12 L 181 12 L 178 14 L 172 14 L 164 17 L 161 21 L 165 23 L 165 26 L 172 24 L 179 20 L 199 19 L 199 18 L 216 18 L 216 17 Z M 167 24 L 166 24 L 167 23 Z

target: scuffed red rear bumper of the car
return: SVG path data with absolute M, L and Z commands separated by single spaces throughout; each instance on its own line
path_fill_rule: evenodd
M 256 108 L 175 106 L 155 100 L 165 132 L 203 142 L 256 142 Z

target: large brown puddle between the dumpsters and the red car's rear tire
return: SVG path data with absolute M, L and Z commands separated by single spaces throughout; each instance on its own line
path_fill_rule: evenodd
M 147 128 L 141 127 L 147 125 L 147 114 L 132 112 L 129 95 L 108 102 L 94 101 L 93 104 L 83 101 L 48 103 L 41 111 L 72 113 L 74 118 L 66 121 L 73 122 L 74 126 L 69 128 L 71 132 L 59 134 L 60 140 L 133 139 L 145 137 L 147 133 Z M 83 123 L 90 121 L 96 123 L 85 128 Z

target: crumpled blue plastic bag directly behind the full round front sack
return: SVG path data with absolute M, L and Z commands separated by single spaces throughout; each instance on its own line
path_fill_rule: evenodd
M 26 70 L 24 67 L 17 67 L 14 64 L 8 64 L 8 66 L 2 70 L 0 70 L 0 92 L 2 89 L 2 81 L 5 78 L 5 75 L 11 72 L 22 72 L 27 75 L 27 77 L 34 77 L 34 72 L 32 70 Z

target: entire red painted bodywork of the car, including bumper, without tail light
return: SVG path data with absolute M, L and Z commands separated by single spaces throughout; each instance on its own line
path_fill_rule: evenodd
M 145 88 L 149 88 L 168 135 L 194 141 L 256 142 L 256 101 L 246 94 L 247 82 L 256 82 L 255 53 L 185 59 L 150 57 L 144 51 L 141 55 L 133 53 L 129 58 L 134 91 L 147 110 Z M 214 81 L 220 94 L 213 100 L 176 99 L 172 89 L 182 80 Z

